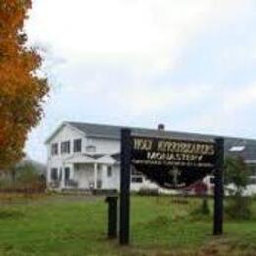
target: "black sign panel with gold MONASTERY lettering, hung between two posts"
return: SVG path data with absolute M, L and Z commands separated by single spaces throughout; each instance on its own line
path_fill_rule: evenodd
M 184 188 L 213 172 L 215 143 L 131 136 L 131 164 L 164 188 Z

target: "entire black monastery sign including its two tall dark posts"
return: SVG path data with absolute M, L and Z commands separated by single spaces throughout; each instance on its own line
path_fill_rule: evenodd
M 130 169 L 166 189 L 182 189 L 214 174 L 213 234 L 222 234 L 224 140 L 212 141 L 148 137 L 121 130 L 119 242 L 129 244 Z

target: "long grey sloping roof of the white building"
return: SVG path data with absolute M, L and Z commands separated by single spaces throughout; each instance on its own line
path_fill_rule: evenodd
M 122 128 L 129 128 L 134 135 L 142 136 L 158 136 L 158 137 L 171 137 L 176 139 L 188 139 L 188 140 L 213 140 L 216 137 L 224 138 L 224 152 L 228 155 L 235 155 L 236 153 L 229 152 L 232 146 L 245 146 L 244 150 L 239 154 L 245 160 L 256 160 L 256 140 L 237 138 L 237 137 L 225 137 L 220 135 L 206 135 L 200 133 L 187 133 L 177 131 L 160 131 L 157 129 L 146 129 L 137 127 L 125 127 L 114 126 L 104 124 L 93 123 L 80 123 L 80 122 L 67 122 L 69 125 L 84 132 L 88 137 L 94 138 L 109 138 L 120 140 L 120 132 Z

